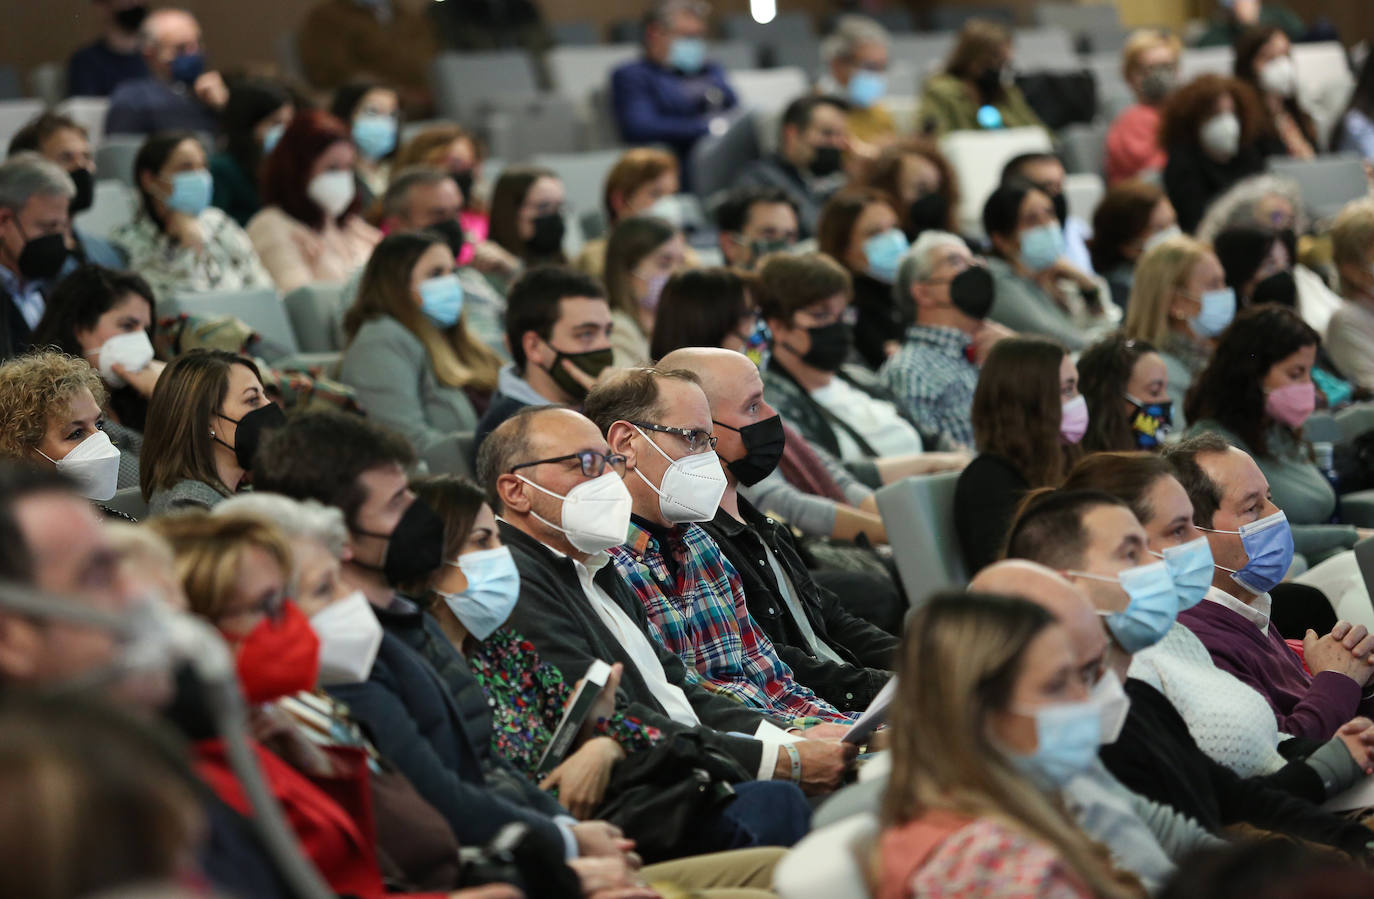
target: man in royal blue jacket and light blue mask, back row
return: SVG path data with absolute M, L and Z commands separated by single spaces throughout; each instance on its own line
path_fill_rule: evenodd
M 625 143 L 665 143 L 679 159 L 736 106 L 725 70 L 708 59 L 702 0 L 655 0 L 644 12 L 644 55 L 610 76 L 610 102 Z

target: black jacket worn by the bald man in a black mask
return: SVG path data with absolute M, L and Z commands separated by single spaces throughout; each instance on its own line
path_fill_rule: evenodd
M 835 594 L 816 584 L 791 535 L 743 496 L 739 498 L 739 514 L 743 522 L 719 509 L 716 517 L 701 526 L 739 572 L 749 614 L 772 641 L 778 657 L 787 663 L 798 683 L 841 711 L 863 711 L 892 676 L 900 641 L 851 614 Z M 791 581 L 816 638 L 835 650 L 844 664 L 818 658 L 807 649 L 807 638 L 787 609 L 768 564 L 768 551 Z

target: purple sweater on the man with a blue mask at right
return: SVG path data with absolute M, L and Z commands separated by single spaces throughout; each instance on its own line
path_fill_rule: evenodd
M 1265 634 L 1242 614 L 1206 599 L 1179 620 L 1197 634 L 1217 668 L 1270 701 L 1281 733 L 1330 740 L 1359 713 L 1360 685 L 1334 671 L 1309 675 L 1272 624 Z

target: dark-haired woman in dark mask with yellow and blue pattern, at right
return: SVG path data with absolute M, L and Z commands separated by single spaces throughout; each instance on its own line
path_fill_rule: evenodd
M 1169 368 L 1150 344 L 1120 333 L 1092 344 L 1079 356 L 1079 388 L 1088 401 L 1085 452 L 1164 444 L 1173 425 Z

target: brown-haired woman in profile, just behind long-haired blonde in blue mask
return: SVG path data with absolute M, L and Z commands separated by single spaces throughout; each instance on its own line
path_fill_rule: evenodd
M 1112 289 L 1112 302 L 1129 313 L 1135 267 L 1145 252 L 1179 234 L 1179 217 L 1164 188 L 1140 179 L 1113 184 L 1092 213 L 1092 268 Z

